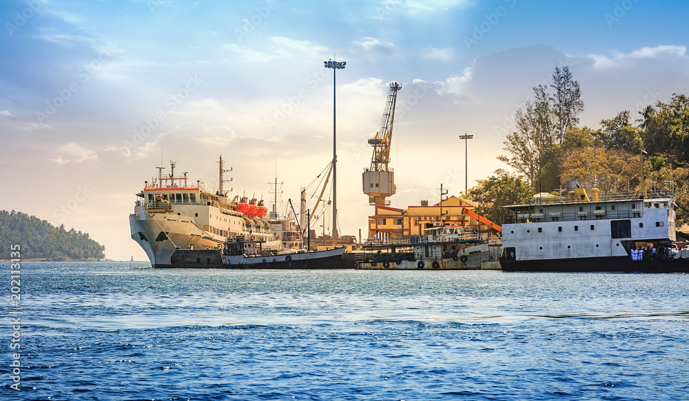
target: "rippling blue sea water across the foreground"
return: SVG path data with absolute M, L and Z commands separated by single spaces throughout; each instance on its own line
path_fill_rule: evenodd
M 688 274 L 0 269 L 0 400 L 689 400 Z

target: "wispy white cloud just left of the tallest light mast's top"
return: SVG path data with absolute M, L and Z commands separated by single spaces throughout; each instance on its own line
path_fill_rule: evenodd
M 304 56 L 318 56 L 329 52 L 329 48 L 311 41 L 296 41 L 286 37 L 269 37 L 265 50 L 236 44 L 223 45 L 222 48 L 232 50 L 246 61 L 267 63 L 278 59 L 300 59 Z M 260 47 L 260 46 L 259 46 Z

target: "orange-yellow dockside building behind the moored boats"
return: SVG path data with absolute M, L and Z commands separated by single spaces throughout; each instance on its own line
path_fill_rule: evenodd
M 459 225 L 466 231 L 489 232 L 489 227 L 477 220 L 462 214 L 462 209 L 475 209 L 477 203 L 456 196 L 450 196 L 442 201 L 442 217 L 440 203 L 428 205 L 422 200 L 421 205 L 409 206 L 407 209 L 397 209 L 389 206 L 376 206 L 373 216 L 369 216 L 369 238 L 389 239 L 424 235 L 424 229 L 441 225 Z

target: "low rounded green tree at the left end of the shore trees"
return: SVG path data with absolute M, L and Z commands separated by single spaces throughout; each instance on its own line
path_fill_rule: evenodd
M 486 180 L 478 180 L 478 185 L 469 189 L 467 197 L 479 203 L 477 214 L 500 224 L 506 215 L 502 207 L 528 203 L 533 191 L 529 183 L 502 169 L 495 174 Z

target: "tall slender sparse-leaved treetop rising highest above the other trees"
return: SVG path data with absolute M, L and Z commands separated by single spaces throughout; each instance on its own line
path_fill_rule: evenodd
M 582 101 L 579 83 L 572 79 L 572 73 L 567 65 L 563 68 L 555 67 L 551 88 L 555 90 L 550 100 L 555 114 L 557 138 L 562 143 L 565 132 L 579 123 L 577 116 L 584 111 L 584 101 Z

